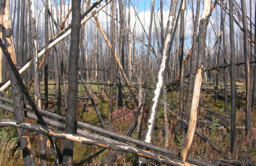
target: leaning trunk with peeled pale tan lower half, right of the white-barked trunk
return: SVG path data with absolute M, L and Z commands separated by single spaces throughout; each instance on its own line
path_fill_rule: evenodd
M 204 9 L 199 24 L 199 35 L 198 35 L 198 57 L 197 57 L 197 72 L 194 82 L 194 90 L 192 97 L 192 105 L 190 110 L 189 127 L 186 138 L 185 148 L 182 149 L 180 158 L 183 161 L 187 161 L 189 151 L 194 139 L 196 122 L 197 122 L 197 108 L 200 99 L 201 84 L 202 84 L 202 73 L 203 73 L 203 58 L 205 56 L 205 38 L 207 31 L 208 19 L 211 14 L 211 1 L 204 0 Z

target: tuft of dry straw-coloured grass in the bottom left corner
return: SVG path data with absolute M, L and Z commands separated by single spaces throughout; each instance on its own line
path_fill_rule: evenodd
M 0 140 L 0 166 L 13 166 L 22 162 L 22 151 L 20 148 L 16 149 L 16 141 L 8 139 L 5 135 Z

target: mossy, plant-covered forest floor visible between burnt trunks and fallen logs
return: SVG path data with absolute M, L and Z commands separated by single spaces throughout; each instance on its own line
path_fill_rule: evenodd
M 204 85 L 204 88 L 213 89 L 213 86 Z M 43 88 L 43 87 L 42 87 Z M 223 87 L 219 87 L 222 89 Z M 56 97 L 51 94 L 56 94 L 55 87 L 49 87 L 49 108 L 53 110 L 57 110 L 57 101 Z M 107 120 L 107 111 L 108 111 L 108 103 L 107 96 L 102 95 L 102 90 L 108 89 L 104 86 L 90 86 L 91 92 L 93 94 L 93 98 L 101 111 L 102 117 L 104 120 Z M 244 91 L 243 87 L 240 88 L 240 91 Z M 30 90 L 32 92 L 32 90 Z M 42 93 L 43 90 L 41 91 Z M 32 94 L 31 94 L 32 95 Z M 178 108 L 178 90 L 168 91 L 166 94 L 167 103 L 170 104 L 170 108 L 177 112 Z M 6 96 L 10 97 L 10 92 L 6 93 Z M 90 123 L 92 125 L 97 125 L 99 120 L 97 115 L 93 109 L 93 106 L 89 99 L 85 99 L 86 92 L 83 86 L 79 85 L 79 96 L 84 97 L 84 99 L 78 99 L 77 105 L 77 119 L 84 121 L 86 123 Z M 126 95 L 126 101 L 129 101 L 129 95 Z M 186 96 L 186 94 L 185 94 Z M 62 98 L 63 99 L 63 98 Z M 150 106 L 150 102 L 148 104 Z M 233 156 L 235 159 L 243 160 L 244 158 L 250 160 L 251 162 L 256 162 L 256 112 L 252 111 L 251 114 L 251 124 L 252 124 L 252 135 L 249 141 L 246 143 L 245 139 L 245 112 L 244 112 L 244 100 L 242 98 L 239 99 L 240 104 L 237 102 L 237 111 L 236 111 L 236 127 L 237 127 L 237 146 L 235 148 L 235 153 L 230 153 L 230 104 L 228 105 L 228 111 L 225 111 L 225 102 L 223 97 L 217 97 L 214 99 L 214 95 L 208 92 L 202 93 L 202 102 L 200 104 L 199 112 L 198 112 L 198 123 L 197 129 L 202 132 L 206 137 L 210 138 L 215 144 L 217 144 L 220 148 L 222 148 L 225 152 L 227 152 L 230 156 Z M 126 112 L 129 112 L 129 109 L 120 109 L 117 108 L 114 101 L 114 110 L 113 110 L 113 118 L 118 117 Z M 128 106 L 131 107 L 130 102 L 127 102 Z M 44 104 L 44 102 L 42 103 Z M 147 121 L 147 113 L 149 106 L 145 108 L 145 115 L 143 116 L 143 128 L 145 128 L 145 121 Z M 62 107 L 64 107 L 64 103 L 62 103 Z M 63 108 L 64 109 L 64 108 Z M 112 121 L 112 131 L 115 131 L 120 134 L 125 134 L 129 128 L 130 122 L 134 116 L 133 113 L 128 113 L 127 115 L 119 118 L 117 120 Z M 11 113 L 0 111 L 0 118 L 14 118 Z M 34 120 L 27 119 L 27 122 L 35 122 Z M 175 117 L 172 117 L 168 114 L 169 121 L 169 139 L 168 139 L 168 147 L 171 150 L 180 152 L 182 147 L 182 134 L 177 132 L 177 120 Z M 159 106 L 159 110 L 157 113 L 157 123 L 155 127 L 154 139 L 153 143 L 155 145 L 164 146 L 165 144 L 165 128 L 164 128 L 164 110 L 162 106 Z M 132 137 L 137 138 L 138 133 L 133 132 Z M 16 130 L 11 127 L 7 127 L 5 129 L 0 129 L 0 139 L 1 142 L 3 139 L 7 140 L 15 140 L 15 144 L 13 147 L 18 145 L 18 137 Z M 39 146 L 38 146 L 38 135 L 31 133 L 30 135 L 32 149 L 34 150 L 36 162 L 40 162 L 39 154 Z M 13 142 L 13 141 L 12 141 Z M 61 140 L 58 140 L 57 143 L 59 145 L 62 144 Z M 60 146 L 61 147 L 61 146 Z M 15 149 L 15 148 L 14 148 Z M 88 156 L 98 152 L 102 148 L 90 145 L 83 145 L 80 143 L 75 143 L 75 154 L 74 154 L 74 163 L 80 162 L 81 160 L 87 158 Z M 19 158 L 20 152 L 16 154 L 16 158 Z M 48 164 L 53 165 L 54 156 L 49 155 Z M 210 158 L 210 159 L 225 159 L 223 155 L 218 154 L 215 150 L 213 150 L 208 143 L 202 141 L 199 137 L 195 136 L 194 144 L 190 152 L 190 156 L 194 156 L 200 159 Z M 242 159 L 242 157 L 244 157 Z M 1 157 L 0 157 L 1 160 Z M 99 163 L 111 163 L 111 165 L 133 165 L 133 162 L 136 161 L 136 156 L 128 153 L 122 154 L 114 152 L 113 150 L 107 149 L 97 157 L 91 159 L 89 162 L 84 163 L 83 165 L 98 165 Z M 152 162 L 156 163 L 152 160 Z M 20 163 L 20 164 L 17 164 Z M 159 163 L 156 163 L 159 165 Z M 1 161 L 0 161 L 1 165 Z M 12 165 L 12 164 L 10 164 Z M 23 165 L 22 158 L 19 159 L 18 162 L 15 162 L 13 165 Z

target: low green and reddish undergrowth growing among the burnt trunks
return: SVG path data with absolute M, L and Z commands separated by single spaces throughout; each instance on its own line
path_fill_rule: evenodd
M 63 93 L 63 87 L 62 88 L 62 95 L 64 95 Z M 66 88 L 68 88 L 68 86 L 66 86 Z M 102 88 L 104 88 L 104 86 L 97 86 L 97 85 L 89 85 L 89 88 L 91 89 L 92 92 L 99 92 Z M 147 92 L 153 94 L 153 90 L 154 87 L 151 86 L 151 89 L 147 89 Z M 55 86 L 49 86 L 49 93 L 52 94 L 56 94 L 55 91 Z M 82 84 L 79 85 L 79 96 L 86 96 L 86 92 L 85 89 L 83 87 Z M 107 87 L 106 89 L 107 92 L 109 92 L 109 87 Z M 30 95 L 32 96 L 33 94 L 31 93 L 33 92 L 33 89 L 30 90 Z M 41 92 L 44 93 L 43 90 L 43 86 L 41 87 Z M 128 94 L 129 90 L 128 88 L 125 86 L 124 87 L 124 92 L 126 95 L 126 102 L 128 104 L 128 106 L 131 108 L 131 101 L 130 101 L 130 95 Z M 137 96 L 138 91 L 134 89 L 135 95 Z M 116 89 L 114 89 L 114 93 L 116 94 Z M 8 97 L 10 98 L 10 92 L 9 94 L 6 93 L 6 95 L 8 95 Z M 44 95 L 42 95 L 43 97 Z M 114 95 L 115 96 L 115 95 Z M 214 112 L 221 114 L 221 115 L 230 115 L 230 104 L 228 105 L 228 111 L 225 112 L 225 102 L 224 99 L 222 98 L 217 98 L 216 102 L 214 101 L 214 96 L 211 96 L 209 94 L 205 94 L 203 93 L 204 96 L 203 99 L 203 105 L 200 105 L 200 107 L 202 107 L 202 111 L 205 111 L 206 109 L 210 109 L 213 110 Z M 186 93 L 185 93 L 185 97 L 186 97 Z M 53 100 L 56 100 L 56 97 L 50 97 Z M 107 114 L 108 114 L 108 102 L 102 100 L 102 98 L 100 96 L 95 96 L 94 95 L 94 99 L 95 102 L 97 104 L 98 109 L 101 112 L 101 115 L 103 117 L 104 121 L 107 121 Z M 63 98 L 62 98 L 63 100 Z M 168 107 L 178 113 L 178 100 L 179 100 L 179 91 L 177 90 L 172 90 L 166 93 L 166 102 L 168 104 Z M 186 100 L 185 100 L 186 101 Z M 146 106 L 143 108 L 144 109 L 144 116 L 143 116 L 143 121 L 142 121 L 142 133 L 144 133 L 145 131 L 145 123 L 147 122 L 147 116 L 150 110 L 150 104 L 151 104 L 152 100 L 148 100 L 147 103 L 145 104 Z M 230 103 L 230 102 L 229 102 Z M 55 104 L 55 105 L 54 105 Z M 244 103 L 241 103 L 242 107 L 244 106 Z M 56 107 L 56 102 L 50 102 L 50 106 L 52 106 L 52 109 L 57 110 Z M 64 107 L 64 103 L 62 103 L 62 107 Z M 186 108 L 186 105 L 185 105 Z M 114 97 L 114 101 L 113 101 L 113 117 L 118 117 L 126 112 L 130 111 L 129 109 L 126 110 L 122 110 L 118 107 L 116 107 L 116 98 Z M 201 111 L 201 110 L 200 110 Z M 199 112 L 200 112 L 199 111 Z M 204 112 L 205 113 L 205 112 Z M 198 114 L 198 119 L 205 119 L 204 113 L 199 113 Z M 181 147 L 182 147 L 182 143 L 184 142 L 184 138 L 182 138 L 182 134 L 181 132 L 178 132 L 176 129 L 177 126 L 177 120 L 175 117 L 171 116 L 170 113 L 167 113 L 168 115 L 168 125 L 169 125 L 169 138 L 168 138 L 168 148 L 177 152 L 180 152 Z M 1 118 L 13 118 L 12 114 L 9 113 L 3 113 L 0 112 L 0 116 Z M 117 120 L 112 121 L 112 130 L 120 133 L 120 134 L 125 134 L 130 122 L 133 118 L 134 114 L 130 113 L 122 118 L 119 118 Z M 243 111 L 239 111 L 239 108 L 237 107 L 237 126 L 244 126 L 244 118 L 245 118 L 245 113 Z M 166 142 L 166 138 L 165 138 L 165 122 L 164 122 L 164 109 L 161 105 L 159 105 L 159 109 L 157 112 L 157 122 L 156 122 L 156 128 L 154 131 L 154 139 L 153 142 L 156 145 L 159 146 L 164 146 L 165 142 Z M 92 104 L 90 103 L 89 99 L 78 99 L 78 105 L 77 105 L 77 119 L 82 120 L 86 123 L 90 123 L 91 125 L 97 125 L 99 124 L 99 120 L 97 117 L 97 114 L 95 113 L 95 110 L 92 106 Z M 256 115 L 255 112 L 252 113 L 252 121 L 256 122 Z M 213 118 L 212 120 L 213 123 L 206 123 L 204 125 L 200 125 L 198 126 L 198 130 L 203 133 L 206 137 L 208 137 L 211 141 L 213 141 L 214 143 L 216 143 L 218 146 L 220 146 L 220 148 L 224 149 L 225 151 L 228 152 L 228 154 L 230 154 L 229 152 L 229 146 L 230 146 L 230 131 L 229 129 L 223 129 L 220 128 L 216 125 L 214 125 L 214 123 L 218 123 L 220 122 L 220 119 L 218 118 Z M 253 123 L 253 128 L 255 128 L 255 123 Z M 17 134 L 16 134 L 16 130 L 14 128 L 5 128 L 7 130 L 7 133 L 11 133 L 10 138 L 17 138 Z M 0 132 L 1 129 L 0 129 Z M 1 135 L 4 135 L 5 133 L 0 133 L 0 137 Z M 132 133 L 132 137 L 138 138 L 138 133 L 137 132 L 133 132 Z M 36 140 L 36 135 L 32 135 L 30 136 L 31 138 L 31 142 L 32 142 L 32 147 L 34 148 L 34 151 L 37 153 L 38 152 L 38 140 Z M 244 138 L 245 138 L 245 134 L 244 134 L 244 130 L 238 130 L 237 131 L 237 145 L 240 149 L 242 149 L 243 151 L 247 150 L 248 147 L 252 147 L 252 146 L 247 146 L 244 143 Z M 253 137 L 253 139 L 255 139 L 255 137 Z M 251 140 L 251 145 L 253 144 L 253 141 L 255 142 L 255 140 Z M 57 142 L 57 144 L 60 144 L 60 142 Z M 77 163 L 85 158 L 87 158 L 88 156 L 98 152 L 99 150 L 101 150 L 102 148 L 100 147 L 96 147 L 96 146 L 91 146 L 91 145 L 84 145 L 81 143 L 75 143 L 75 151 L 74 151 L 74 162 Z M 253 151 L 253 150 L 251 150 Z M 102 162 L 105 158 L 105 156 L 109 155 L 109 154 L 113 154 L 116 153 L 113 150 L 105 150 L 103 153 L 101 153 L 99 156 L 93 158 L 92 160 L 90 160 L 89 162 L 86 162 L 83 165 L 97 165 L 100 162 Z M 230 154 L 232 155 L 232 154 Z M 254 157 L 253 157 L 254 155 Z M 194 144 L 193 147 L 191 149 L 190 152 L 190 156 L 193 157 L 197 157 L 197 158 L 214 158 L 214 159 L 224 159 L 222 155 L 218 154 L 215 150 L 213 150 L 210 145 L 208 143 L 203 142 L 200 138 L 198 138 L 197 136 L 194 139 Z M 241 152 L 237 151 L 234 155 L 234 158 L 239 159 L 238 156 L 241 156 Z M 250 158 L 251 161 L 256 160 L 255 157 L 255 152 L 250 152 L 247 154 L 247 156 Z M 36 155 L 37 161 L 39 160 L 39 155 Z M 118 154 L 116 155 L 116 157 L 112 157 L 113 159 L 113 164 L 112 165 L 132 165 L 133 162 L 136 160 L 135 155 L 128 153 L 128 154 Z M 53 155 L 49 155 L 48 158 L 49 161 L 49 165 L 53 165 L 54 163 L 54 156 Z M 158 164 L 157 162 L 154 162 L 155 164 Z

